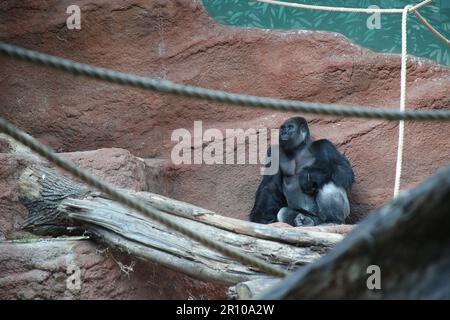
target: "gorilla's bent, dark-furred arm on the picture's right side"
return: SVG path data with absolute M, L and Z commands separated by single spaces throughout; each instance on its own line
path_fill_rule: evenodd
M 350 191 L 355 178 L 347 157 L 340 153 L 331 141 L 326 139 L 314 141 L 311 151 L 316 157 L 312 167 L 322 170 L 322 175 L 319 175 L 319 182 L 323 185 L 332 180 L 336 186 L 344 188 L 347 192 Z M 326 170 L 325 174 L 323 170 Z M 326 179 L 329 180 L 324 181 Z

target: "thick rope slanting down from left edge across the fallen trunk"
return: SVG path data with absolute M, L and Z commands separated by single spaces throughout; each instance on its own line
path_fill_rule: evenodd
M 174 221 L 170 216 L 157 210 L 156 208 L 149 206 L 142 201 L 134 199 L 120 192 L 112 185 L 90 174 L 86 170 L 78 168 L 72 162 L 61 158 L 55 152 L 53 152 L 53 150 L 39 143 L 36 139 L 29 136 L 25 132 L 19 130 L 2 117 L 0 117 L 0 132 L 3 132 L 11 136 L 18 142 L 22 143 L 23 145 L 27 146 L 28 148 L 30 148 L 31 150 L 42 156 L 43 158 L 50 161 L 51 163 L 66 170 L 67 172 L 79 178 L 80 180 L 90 185 L 91 187 L 94 187 L 97 190 L 107 194 L 108 196 L 111 197 L 112 200 L 127 206 L 131 210 L 138 211 L 143 215 L 148 216 L 151 219 L 165 225 L 166 227 L 200 242 L 201 244 L 205 245 L 210 249 L 214 249 L 225 256 L 236 259 L 242 264 L 256 267 L 261 272 L 265 272 L 267 274 L 271 274 L 278 277 L 284 277 L 288 274 L 287 271 L 279 269 L 259 258 L 249 256 L 241 250 L 237 250 L 233 247 L 223 245 L 222 243 L 217 242 L 215 240 L 208 239 L 205 236 L 199 234 L 197 231 L 191 230 L 183 226 L 181 223 Z

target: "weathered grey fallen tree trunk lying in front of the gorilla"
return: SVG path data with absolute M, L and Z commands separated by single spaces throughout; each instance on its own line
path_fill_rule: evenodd
M 40 164 L 22 173 L 20 190 L 29 211 L 23 227 L 33 233 L 58 236 L 86 232 L 109 246 L 202 280 L 236 284 L 267 278 Z M 159 195 L 123 191 L 161 212 L 175 214 L 174 220 L 210 239 L 289 270 L 318 259 L 343 238 L 323 229 L 275 228 L 226 218 Z

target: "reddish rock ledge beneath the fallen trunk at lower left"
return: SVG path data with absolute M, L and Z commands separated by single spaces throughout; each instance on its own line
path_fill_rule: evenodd
M 226 292 L 86 240 L 0 243 L 0 263 L 0 299 L 198 300 Z

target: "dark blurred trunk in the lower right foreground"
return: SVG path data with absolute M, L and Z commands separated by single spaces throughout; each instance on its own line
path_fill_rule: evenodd
M 373 265 L 379 274 L 368 269 Z M 450 166 L 372 213 L 329 254 L 259 297 L 450 299 Z

